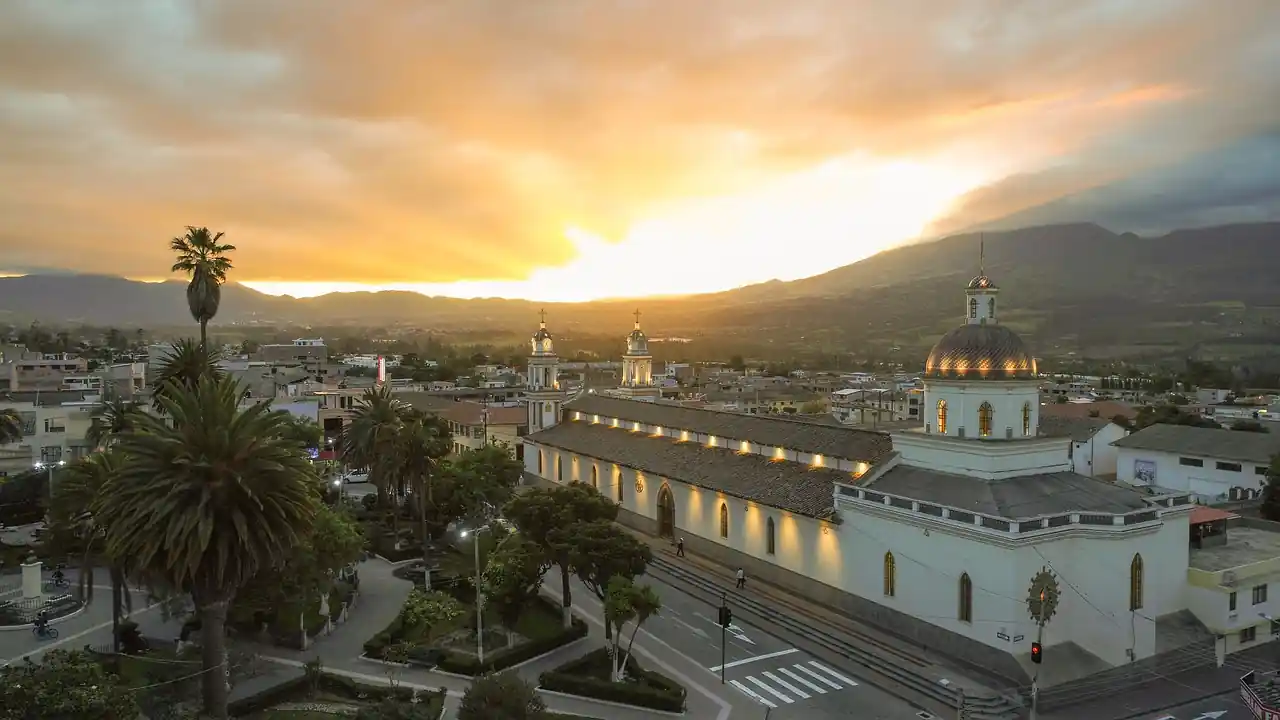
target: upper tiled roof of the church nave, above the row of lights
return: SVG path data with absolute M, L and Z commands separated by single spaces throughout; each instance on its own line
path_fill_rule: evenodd
M 893 451 L 893 442 L 886 433 L 819 425 L 769 415 L 721 413 L 667 402 L 602 397 L 594 393 L 571 401 L 568 409 L 580 411 L 584 416 L 602 415 L 870 464 Z

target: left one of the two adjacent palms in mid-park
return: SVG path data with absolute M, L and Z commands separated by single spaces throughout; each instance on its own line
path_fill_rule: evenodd
M 396 438 L 404 424 L 407 409 L 407 405 L 392 396 L 387 386 L 366 389 L 356 404 L 355 416 L 342 432 L 343 462 L 369 470 L 369 482 L 378 488 L 378 502 L 383 507 L 387 507 L 399 479 Z M 393 528 L 397 530 L 398 515 L 398 511 L 392 515 Z

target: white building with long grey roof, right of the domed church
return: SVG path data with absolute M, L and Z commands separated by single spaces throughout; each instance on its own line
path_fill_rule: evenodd
M 1158 424 L 1112 445 L 1116 479 L 1217 502 L 1262 489 L 1280 436 Z

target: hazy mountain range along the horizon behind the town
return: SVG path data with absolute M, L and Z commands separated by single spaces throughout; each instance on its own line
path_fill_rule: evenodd
M 1280 342 L 1280 223 L 1117 234 L 1094 224 L 986 233 L 986 272 L 1004 322 L 1041 354 L 1140 354 L 1213 342 Z M 535 322 L 622 334 L 636 305 L 652 334 L 823 352 L 928 347 L 960 322 L 978 273 L 977 234 L 899 247 L 792 282 L 682 299 L 586 304 L 454 300 L 411 292 L 274 297 L 230 284 L 219 323 L 412 324 L 499 333 Z M 785 252 L 785 247 L 778 251 Z M 709 269 L 714 272 L 713 268 Z M 0 278 L 0 322 L 40 319 L 118 327 L 189 323 L 184 283 L 100 275 Z

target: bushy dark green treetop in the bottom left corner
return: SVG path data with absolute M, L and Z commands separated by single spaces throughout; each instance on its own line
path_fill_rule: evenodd
M 51 650 L 32 662 L 24 657 L 0 667 L 4 720 L 136 720 L 133 689 L 86 652 Z

